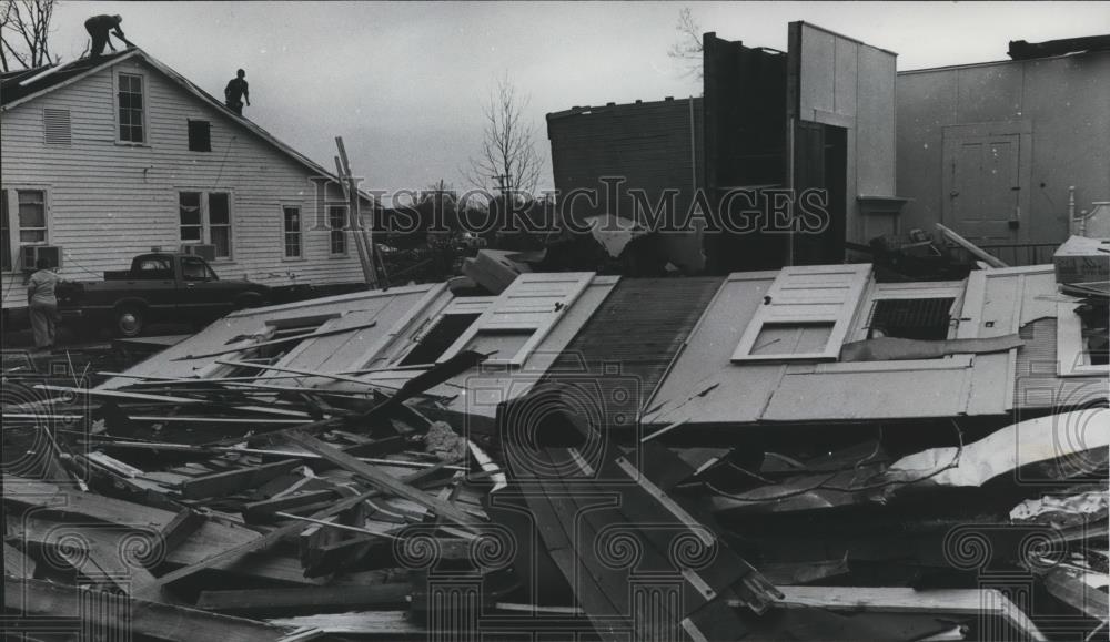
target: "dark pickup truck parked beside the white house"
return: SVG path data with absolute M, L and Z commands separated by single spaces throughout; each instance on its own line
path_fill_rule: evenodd
M 134 337 L 151 323 L 201 325 L 229 312 L 268 302 L 270 288 L 249 281 L 221 281 L 200 256 L 140 254 L 131 269 L 104 273 L 100 282 L 58 285 L 58 310 L 81 325 L 109 325 L 119 336 Z M 88 325 L 87 325 L 88 324 Z

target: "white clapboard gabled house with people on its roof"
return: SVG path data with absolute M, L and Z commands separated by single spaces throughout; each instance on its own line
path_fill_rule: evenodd
M 147 52 L 4 74 L 0 91 L 6 317 L 39 253 L 74 281 L 152 247 L 268 285 L 363 279 L 353 238 L 330 228 L 337 185 L 317 196 L 333 174 Z

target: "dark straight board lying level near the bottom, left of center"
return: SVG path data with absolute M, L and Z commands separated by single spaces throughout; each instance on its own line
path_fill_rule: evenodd
M 201 591 L 196 608 L 220 612 L 272 612 L 281 609 L 350 610 L 407 607 L 412 584 L 377 583 L 364 587 L 313 587 Z

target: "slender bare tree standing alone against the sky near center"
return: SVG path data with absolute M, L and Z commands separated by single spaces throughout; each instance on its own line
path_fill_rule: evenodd
M 485 105 L 482 152 L 471 159 L 466 180 L 475 187 L 496 188 L 507 194 L 531 194 L 539 183 L 543 161 L 536 152 L 536 126 L 525 111 L 531 99 L 521 96 L 507 77 Z

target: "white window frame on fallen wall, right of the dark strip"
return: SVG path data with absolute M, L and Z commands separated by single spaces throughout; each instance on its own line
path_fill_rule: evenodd
M 869 264 L 784 267 L 744 330 L 733 360 L 836 360 L 870 276 Z M 764 349 L 765 346 L 756 342 L 770 324 L 787 328 L 784 336 L 791 330 L 799 335 L 813 332 L 815 336 L 790 337 L 798 342 L 810 340 L 808 349 L 800 351 Z M 820 328 L 820 332 L 811 328 Z

